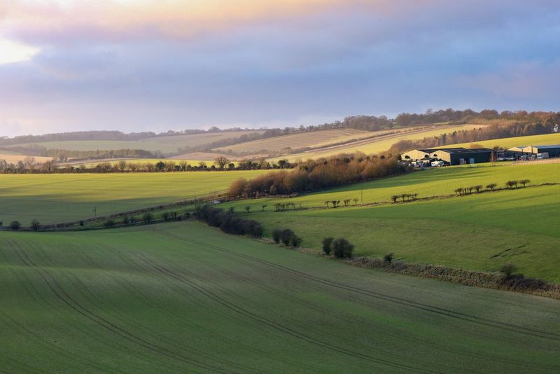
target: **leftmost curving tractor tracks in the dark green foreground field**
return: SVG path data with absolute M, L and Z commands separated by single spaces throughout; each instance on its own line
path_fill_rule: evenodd
M 62 303 L 64 303 L 67 307 L 69 307 L 74 312 L 82 315 L 86 319 L 90 319 L 90 321 L 94 322 L 99 326 L 102 326 L 103 328 L 110 331 L 111 333 L 118 335 L 121 338 L 128 340 L 129 342 L 132 342 L 134 345 L 143 347 L 144 349 L 148 349 L 148 351 L 151 351 L 156 354 L 161 354 L 163 356 L 167 356 L 170 359 L 187 363 L 198 369 L 208 370 L 216 373 L 226 373 L 226 370 L 210 366 L 206 363 L 202 363 L 188 356 L 183 356 L 182 354 L 172 352 L 169 349 L 165 349 L 165 347 L 160 347 L 155 343 L 149 342 L 148 340 L 145 340 L 144 338 L 141 338 L 138 335 L 135 335 L 134 333 L 131 333 L 130 331 L 127 331 L 124 328 L 121 328 L 120 326 L 113 324 L 111 321 L 105 319 L 99 314 L 92 312 L 87 307 L 84 307 L 83 305 L 78 303 L 74 298 L 72 298 L 69 295 L 69 293 L 58 282 L 57 278 L 53 276 L 48 270 L 45 270 L 37 266 L 31 260 L 31 258 L 29 258 L 25 250 L 22 249 L 22 247 L 20 247 L 19 244 L 11 241 L 8 242 L 10 242 L 12 248 L 14 249 L 16 254 L 18 254 L 18 257 L 20 258 L 22 263 L 24 263 L 28 268 L 35 270 L 38 273 L 38 275 L 43 279 L 43 281 L 48 285 L 52 293 L 54 293 L 55 296 L 57 296 L 57 298 L 62 301 Z

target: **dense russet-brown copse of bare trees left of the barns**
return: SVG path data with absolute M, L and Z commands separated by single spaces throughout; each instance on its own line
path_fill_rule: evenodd
M 309 160 L 292 172 L 273 172 L 250 181 L 234 181 L 228 191 L 231 198 L 258 198 L 262 195 L 291 195 L 346 183 L 366 181 L 407 172 L 396 158 L 347 155 Z

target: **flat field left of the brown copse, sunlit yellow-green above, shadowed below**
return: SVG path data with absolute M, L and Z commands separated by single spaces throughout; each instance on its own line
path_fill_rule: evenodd
M 73 221 L 94 216 L 94 207 L 104 216 L 223 192 L 235 179 L 262 172 L 0 174 L 0 221 Z

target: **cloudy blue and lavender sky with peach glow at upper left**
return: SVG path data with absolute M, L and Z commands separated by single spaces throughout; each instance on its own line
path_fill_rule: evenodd
M 0 0 L 0 136 L 560 111 L 558 0 Z

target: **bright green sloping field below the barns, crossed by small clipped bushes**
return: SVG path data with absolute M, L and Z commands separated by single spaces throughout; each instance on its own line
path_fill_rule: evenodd
M 460 186 L 503 185 L 508 179 L 559 183 L 560 165 L 447 167 L 290 200 L 246 200 L 235 207 L 244 212 L 246 205 L 251 206 L 247 216 L 262 222 L 267 235 L 274 228 L 292 228 L 303 237 L 304 247 L 320 249 L 323 237 L 346 237 L 356 245 L 358 255 L 380 257 L 394 252 L 409 262 L 471 270 L 497 270 L 511 262 L 525 275 L 560 282 L 560 186 L 373 207 L 287 212 L 274 212 L 273 207 L 276 202 L 321 207 L 325 200 L 360 199 L 362 188 L 364 203 L 388 202 L 393 194 L 452 194 Z M 260 212 L 261 205 L 267 205 L 265 212 Z

